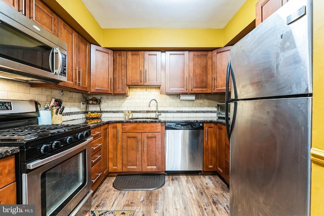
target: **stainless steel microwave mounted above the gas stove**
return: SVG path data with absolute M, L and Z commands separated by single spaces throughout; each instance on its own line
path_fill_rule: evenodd
M 66 43 L 0 1 L 0 78 L 66 81 Z

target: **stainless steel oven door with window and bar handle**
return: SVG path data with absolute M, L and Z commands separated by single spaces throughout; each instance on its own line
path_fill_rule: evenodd
M 91 141 L 27 164 L 22 175 L 23 204 L 35 204 L 35 215 L 75 215 L 91 207 Z M 89 201 L 90 200 L 90 201 Z M 86 202 L 86 203 L 85 203 Z

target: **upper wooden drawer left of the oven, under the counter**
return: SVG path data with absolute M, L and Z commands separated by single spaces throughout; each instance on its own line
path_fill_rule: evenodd
M 15 155 L 0 159 L 0 188 L 16 181 Z

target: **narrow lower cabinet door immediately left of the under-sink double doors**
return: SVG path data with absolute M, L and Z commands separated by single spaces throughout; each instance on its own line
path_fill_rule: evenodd
M 109 171 L 121 172 L 121 123 L 109 124 Z

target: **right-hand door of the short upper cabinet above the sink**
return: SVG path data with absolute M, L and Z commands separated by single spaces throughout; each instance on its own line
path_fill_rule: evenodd
M 144 85 L 161 85 L 161 52 L 144 52 Z

